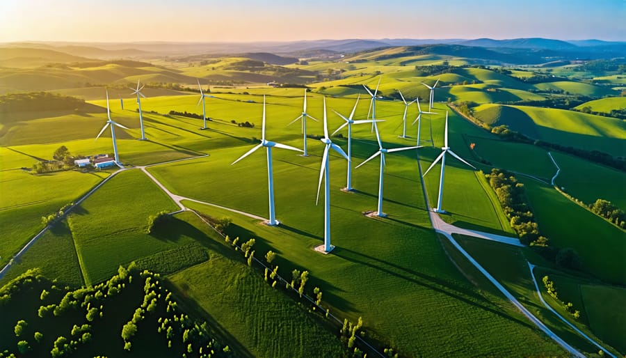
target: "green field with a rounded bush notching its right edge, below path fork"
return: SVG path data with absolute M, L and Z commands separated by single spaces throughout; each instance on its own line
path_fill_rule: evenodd
M 148 216 L 161 210 L 175 211 L 177 206 L 141 171 L 118 174 L 83 201 L 67 220 L 85 283 L 103 281 L 119 265 L 184 240 L 184 236 L 163 240 L 143 232 Z

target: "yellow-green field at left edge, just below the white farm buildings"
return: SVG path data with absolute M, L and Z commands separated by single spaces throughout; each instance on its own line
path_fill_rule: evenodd
M 35 161 L 31 160 L 29 166 Z M 4 233 L 3 244 L 0 245 L 0 264 L 7 263 L 11 256 L 44 228 L 41 221 L 43 216 L 57 212 L 63 205 L 79 199 L 106 176 L 106 172 L 63 171 L 32 175 L 20 169 L 0 171 L 0 227 Z

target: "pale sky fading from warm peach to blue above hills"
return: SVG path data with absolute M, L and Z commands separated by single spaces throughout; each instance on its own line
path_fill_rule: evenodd
M 0 42 L 626 40 L 626 0 L 0 0 Z

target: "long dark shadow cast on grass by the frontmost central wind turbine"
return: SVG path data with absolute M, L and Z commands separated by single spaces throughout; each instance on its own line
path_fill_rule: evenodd
M 442 295 L 447 295 L 448 297 L 464 302 L 465 304 L 469 304 L 476 308 L 483 309 L 484 311 L 489 311 L 490 313 L 500 316 L 501 318 L 504 318 L 506 320 L 511 320 L 512 322 L 523 325 L 524 327 L 528 327 L 531 329 L 534 328 L 534 326 L 530 325 L 528 322 L 524 322 L 488 306 L 488 304 L 490 304 L 490 301 L 482 295 L 475 293 L 470 288 L 463 288 L 457 285 L 453 285 L 450 282 L 438 279 L 437 277 L 432 277 L 428 274 L 416 272 L 406 267 L 401 267 L 400 265 L 389 263 L 387 261 L 380 260 L 372 256 L 360 254 L 351 249 L 338 247 L 333 251 L 333 254 L 353 263 L 358 263 L 359 265 L 364 265 L 367 267 L 371 267 L 375 270 L 385 272 L 385 274 L 389 274 L 393 277 L 406 281 L 407 284 L 413 283 L 424 288 L 428 288 L 429 290 L 441 293 Z M 472 297 L 473 299 L 470 299 L 470 297 Z

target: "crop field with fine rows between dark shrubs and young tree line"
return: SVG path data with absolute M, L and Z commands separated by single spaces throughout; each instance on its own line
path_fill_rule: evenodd
M 203 242 L 212 242 L 209 259 L 169 279 L 180 295 L 193 299 L 211 320 L 248 348 L 248 355 L 341 354 L 337 336 L 308 315 L 303 306 L 265 283 L 260 272 L 251 270 L 232 248 L 223 246 L 223 240 L 198 217 L 191 215 L 186 221 L 205 235 Z

